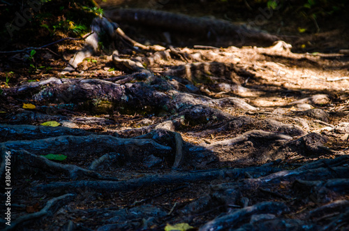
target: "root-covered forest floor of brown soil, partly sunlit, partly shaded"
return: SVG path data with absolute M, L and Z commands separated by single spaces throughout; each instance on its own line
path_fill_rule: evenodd
M 200 23 L 258 15 L 210 2 L 153 8 L 214 16 Z M 319 20 L 315 33 L 313 20 L 275 13 L 259 28 L 282 40 L 273 43 L 188 33 L 166 14 L 154 27 L 149 11 L 132 11 L 144 3 L 107 3 L 143 45 L 113 33 L 70 72 L 47 50 L 0 57 L 0 173 L 10 152 L 13 188 L 12 224 L 1 229 L 349 228 L 348 21 Z M 54 51 L 69 60 L 84 45 Z

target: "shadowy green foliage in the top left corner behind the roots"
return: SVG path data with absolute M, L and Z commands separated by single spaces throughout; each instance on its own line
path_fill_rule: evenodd
M 91 0 L 38 0 L 36 8 L 31 7 L 31 2 L 6 1 L 6 9 L 0 13 L 1 20 L 8 19 L 0 25 L 1 43 L 6 42 L 9 36 L 13 42 L 28 38 L 32 45 L 36 45 L 36 42 L 39 42 L 36 39 L 38 36 L 51 36 L 52 40 L 57 40 L 57 36 L 82 35 L 89 32 L 89 25 L 96 15 L 99 17 L 103 15 L 103 10 L 96 7 Z M 23 25 L 17 25 L 15 13 L 22 15 L 23 10 L 29 9 L 32 11 L 32 17 L 25 17 Z M 6 23 L 10 23 L 13 25 L 11 28 L 15 29 L 8 32 L 9 27 Z

